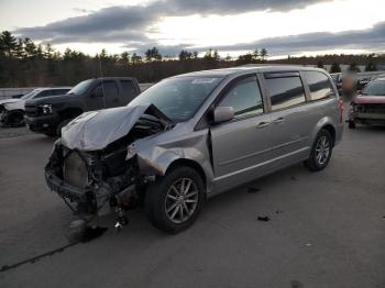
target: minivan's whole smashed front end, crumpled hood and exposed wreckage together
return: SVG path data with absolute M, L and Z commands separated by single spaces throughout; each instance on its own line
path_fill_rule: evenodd
M 141 202 L 154 175 L 141 171 L 134 142 L 173 126 L 154 106 L 122 107 L 84 113 L 62 131 L 45 167 L 45 179 L 72 210 L 91 220 Z

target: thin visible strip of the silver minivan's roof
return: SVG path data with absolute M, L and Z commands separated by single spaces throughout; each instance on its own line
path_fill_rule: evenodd
M 224 69 L 212 69 L 212 70 L 201 70 L 201 71 L 194 71 L 194 73 L 187 73 L 182 74 L 178 76 L 174 76 L 175 78 L 178 77 L 226 77 L 229 75 L 242 75 L 244 73 L 267 73 L 267 71 L 300 71 L 300 70 L 316 70 L 316 71 L 322 71 L 326 70 L 315 67 L 306 67 L 306 66 L 295 66 L 295 65 L 255 65 L 255 66 L 238 66 L 232 68 L 224 68 Z

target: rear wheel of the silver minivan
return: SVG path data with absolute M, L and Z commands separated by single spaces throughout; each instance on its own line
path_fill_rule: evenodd
M 326 129 L 322 129 L 317 134 L 310 156 L 305 162 L 305 166 L 310 171 L 319 171 L 324 169 L 329 164 L 333 145 L 334 140 L 331 136 L 330 132 Z

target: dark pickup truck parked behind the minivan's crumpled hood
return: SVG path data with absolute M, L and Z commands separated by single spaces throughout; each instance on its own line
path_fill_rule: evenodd
M 88 79 L 66 95 L 28 100 L 24 120 L 31 131 L 56 136 L 61 135 L 63 126 L 82 112 L 125 106 L 140 92 L 135 78 Z

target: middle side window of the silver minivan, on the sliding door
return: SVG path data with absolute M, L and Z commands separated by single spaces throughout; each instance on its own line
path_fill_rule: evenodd
M 302 81 L 299 76 L 274 77 L 265 80 L 272 110 L 280 110 L 306 102 Z

